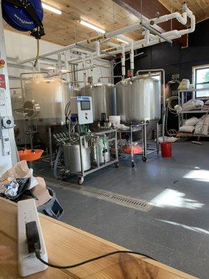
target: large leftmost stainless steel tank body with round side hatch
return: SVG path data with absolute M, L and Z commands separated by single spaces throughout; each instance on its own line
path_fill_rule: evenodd
M 37 119 L 38 124 L 65 123 L 65 106 L 73 96 L 73 86 L 60 78 L 29 80 L 24 84 L 24 112 L 26 118 Z

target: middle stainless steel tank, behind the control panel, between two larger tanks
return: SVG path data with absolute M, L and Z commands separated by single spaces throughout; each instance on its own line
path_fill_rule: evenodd
M 101 120 L 101 114 L 116 115 L 116 86 L 114 84 L 87 85 L 81 89 L 82 96 L 91 96 L 93 102 L 93 119 Z

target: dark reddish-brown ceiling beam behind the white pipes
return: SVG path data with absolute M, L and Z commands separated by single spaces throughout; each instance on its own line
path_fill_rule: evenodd
M 156 17 L 157 12 L 161 15 L 170 14 L 169 10 L 165 8 L 162 3 L 158 0 L 141 0 L 141 1 L 132 1 L 132 0 L 113 0 L 115 3 L 118 3 L 121 7 L 123 7 L 128 12 L 132 13 L 136 17 L 139 17 L 139 20 L 148 20 Z M 142 7 L 141 7 L 142 6 Z M 186 29 L 185 25 L 180 24 L 178 20 L 173 20 L 172 29 L 182 30 Z M 155 29 L 160 32 L 170 31 L 171 30 L 171 21 L 162 22 L 161 24 L 155 25 Z M 176 39 L 176 41 L 182 46 L 187 46 L 187 36 L 183 36 L 181 38 Z

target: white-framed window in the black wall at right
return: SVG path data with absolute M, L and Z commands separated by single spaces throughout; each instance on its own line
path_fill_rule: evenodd
M 198 66 L 193 68 L 193 83 L 197 89 L 207 89 L 204 91 L 197 91 L 196 97 L 209 97 L 209 65 Z

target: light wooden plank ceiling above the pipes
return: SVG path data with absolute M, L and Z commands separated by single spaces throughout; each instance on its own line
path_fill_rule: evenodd
M 143 1 L 147 0 L 142 0 L 142 3 Z M 160 0 L 168 10 L 171 10 L 171 1 L 173 12 L 180 10 L 183 0 Z M 62 10 L 62 15 L 44 10 L 43 21 L 46 33 L 43 40 L 59 45 L 70 45 L 97 36 L 95 31 L 79 24 L 80 19 L 95 24 L 107 32 L 139 22 L 138 17 L 112 0 L 45 0 L 43 2 Z M 189 8 L 196 15 L 197 21 L 209 17 L 208 0 L 189 0 L 187 2 Z M 8 24 L 5 24 L 5 28 L 14 31 Z M 142 38 L 141 31 L 127 33 L 125 36 L 133 40 Z

